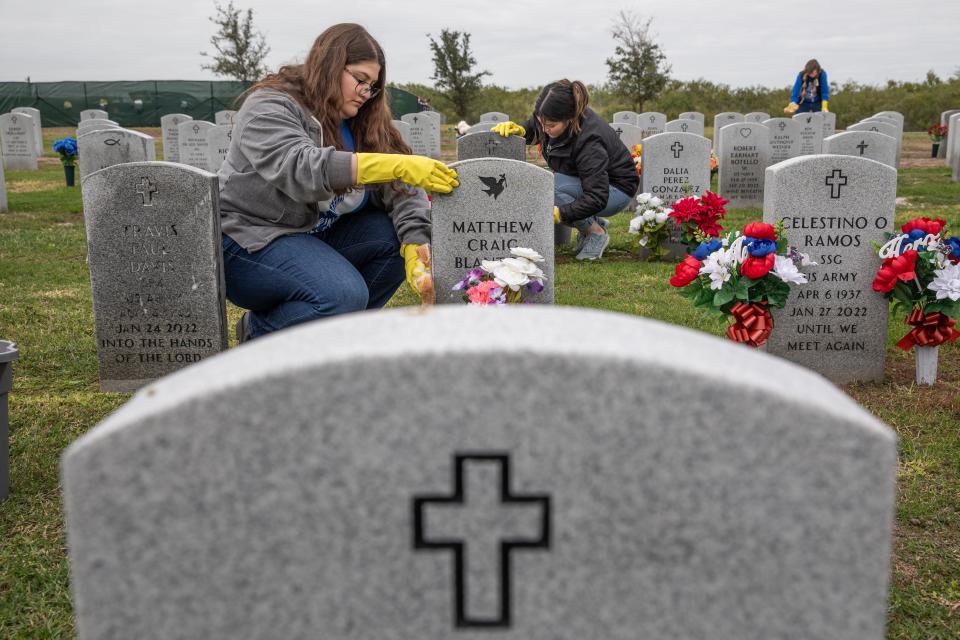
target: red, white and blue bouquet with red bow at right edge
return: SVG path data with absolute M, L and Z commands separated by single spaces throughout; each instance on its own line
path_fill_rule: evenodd
M 883 264 L 873 290 L 906 312 L 913 327 L 897 346 L 936 347 L 955 341 L 960 331 L 960 237 L 947 237 L 943 218 L 914 218 L 879 247 Z

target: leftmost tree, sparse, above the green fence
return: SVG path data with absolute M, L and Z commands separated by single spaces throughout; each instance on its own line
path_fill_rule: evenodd
M 210 22 L 217 25 L 218 31 L 211 36 L 210 44 L 217 52 L 211 55 L 201 51 L 200 55 L 211 58 L 213 63 L 200 68 L 241 82 L 260 79 L 267 72 L 263 59 L 270 47 L 263 34 L 253 28 L 253 9 L 247 9 L 246 17 L 241 18 L 242 11 L 233 5 L 233 0 L 226 7 L 216 0 L 213 4 L 217 15 Z

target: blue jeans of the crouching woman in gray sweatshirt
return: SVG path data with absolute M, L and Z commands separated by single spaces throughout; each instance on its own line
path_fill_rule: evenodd
M 342 216 L 322 233 L 280 236 L 253 253 L 224 235 L 223 266 L 227 299 L 250 310 L 251 338 L 379 309 L 405 279 L 393 222 L 374 210 Z

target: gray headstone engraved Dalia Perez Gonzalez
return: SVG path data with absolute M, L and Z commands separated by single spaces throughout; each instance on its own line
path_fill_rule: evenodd
M 647 138 L 640 179 L 640 190 L 657 196 L 668 207 L 680 198 L 702 196 L 710 188 L 710 140 L 669 131 Z

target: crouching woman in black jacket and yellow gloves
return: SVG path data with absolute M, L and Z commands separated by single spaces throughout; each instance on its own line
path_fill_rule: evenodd
M 522 125 L 501 122 L 492 129 L 540 145 L 554 171 L 554 222 L 580 233 L 577 260 L 603 255 L 610 243 L 604 218 L 623 210 L 640 186 L 630 151 L 587 107 L 589 100 L 582 82 L 552 82 L 540 92 L 533 117 Z

